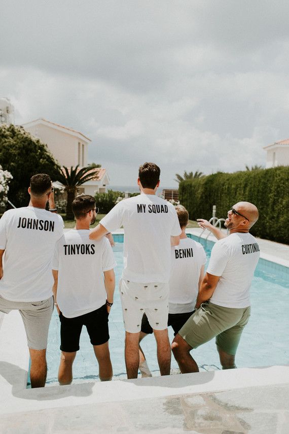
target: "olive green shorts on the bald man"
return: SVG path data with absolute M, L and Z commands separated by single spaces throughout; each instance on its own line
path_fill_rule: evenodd
M 235 355 L 244 326 L 250 317 L 250 306 L 242 309 L 224 308 L 210 302 L 202 303 L 179 330 L 178 334 L 192 348 L 216 338 L 216 345 L 227 354 Z

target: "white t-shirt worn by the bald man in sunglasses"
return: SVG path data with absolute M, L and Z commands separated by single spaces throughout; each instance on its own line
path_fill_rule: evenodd
M 225 308 L 250 306 L 249 290 L 260 257 L 250 233 L 235 232 L 212 248 L 207 273 L 221 276 L 210 301 Z

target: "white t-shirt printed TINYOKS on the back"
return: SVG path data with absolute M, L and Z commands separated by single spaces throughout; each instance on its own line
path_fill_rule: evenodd
M 109 240 L 89 239 L 89 229 L 71 229 L 56 243 L 52 269 L 58 270 L 57 304 L 66 318 L 104 305 L 103 272 L 116 266 Z

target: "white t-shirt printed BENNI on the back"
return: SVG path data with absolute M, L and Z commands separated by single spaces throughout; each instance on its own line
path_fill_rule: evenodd
M 203 246 L 191 238 L 182 238 L 171 248 L 169 313 L 192 312 L 199 290 L 202 265 L 206 263 Z

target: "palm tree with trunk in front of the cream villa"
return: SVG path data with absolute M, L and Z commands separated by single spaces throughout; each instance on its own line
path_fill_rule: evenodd
M 70 169 L 63 166 L 58 174 L 58 181 L 64 186 L 64 190 L 67 193 L 67 203 L 66 203 L 66 218 L 69 220 L 74 219 L 74 214 L 72 211 L 72 203 L 75 199 L 77 188 L 83 185 L 86 181 L 90 181 L 95 177 L 96 170 L 91 167 L 85 167 L 79 169 L 79 164 L 74 168 L 71 166 Z

